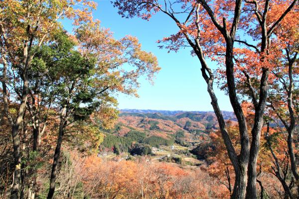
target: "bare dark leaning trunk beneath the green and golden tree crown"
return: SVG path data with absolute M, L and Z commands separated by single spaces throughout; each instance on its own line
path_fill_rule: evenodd
M 60 156 L 61 143 L 62 143 L 62 137 L 63 137 L 65 125 L 66 125 L 66 121 L 64 119 L 60 118 L 59 134 L 58 134 L 57 145 L 56 145 L 56 149 L 55 149 L 55 153 L 54 153 L 54 160 L 53 160 L 52 172 L 51 172 L 51 178 L 50 178 L 50 188 L 49 188 L 49 193 L 48 193 L 47 199 L 52 199 L 54 196 L 54 192 L 55 192 L 58 160 L 59 160 L 59 156 Z

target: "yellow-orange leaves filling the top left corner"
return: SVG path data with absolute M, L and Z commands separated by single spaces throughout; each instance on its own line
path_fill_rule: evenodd
M 59 19 L 67 17 L 78 24 L 90 21 L 91 9 L 95 6 L 90 0 L 3 0 L 0 24 L 9 44 L 6 47 L 13 52 L 19 50 L 31 36 L 37 44 L 47 42 L 61 28 Z

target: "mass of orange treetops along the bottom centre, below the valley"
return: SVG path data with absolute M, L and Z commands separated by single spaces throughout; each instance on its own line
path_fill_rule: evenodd
M 115 162 L 96 156 L 78 165 L 82 166 L 79 175 L 83 190 L 93 198 L 208 199 L 223 195 L 217 183 L 198 168 L 182 169 L 144 158 Z

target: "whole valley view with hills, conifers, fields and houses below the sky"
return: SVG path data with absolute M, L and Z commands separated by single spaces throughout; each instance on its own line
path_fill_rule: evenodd
M 223 114 L 235 122 L 232 112 Z M 124 109 L 115 127 L 105 131 L 98 156 L 116 161 L 147 156 L 150 161 L 199 166 L 204 158 L 194 149 L 209 143 L 217 129 L 210 111 Z

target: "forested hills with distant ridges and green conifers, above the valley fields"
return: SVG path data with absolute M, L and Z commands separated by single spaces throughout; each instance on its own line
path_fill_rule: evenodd
M 174 143 L 194 148 L 210 140 L 209 134 L 218 129 L 213 112 L 164 111 L 164 110 L 120 110 L 113 129 L 101 144 L 102 149 L 122 152 L 130 151 L 133 143 L 151 147 L 170 146 Z M 164 115 L 166 114 L 166 115 Z M 226 119 L 235 122 L 233 112 L 225 112 Z

